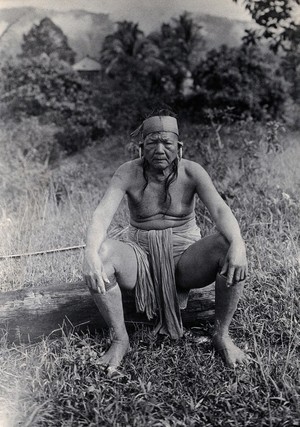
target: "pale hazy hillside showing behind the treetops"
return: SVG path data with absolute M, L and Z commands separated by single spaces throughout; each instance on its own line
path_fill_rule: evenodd
M 69 45 L 76 52 L 76 60 L 89 55 L 99 57 L 102 42 L 114 30 L 108 14 L 91 13 L 85 10 L 68 12 L 21 7 L 0 10 L 0 57 L 16 56 L 21 51 L 22 36 L 33 24 L 48 16 L 68 37 Z M 206 48 L 225 43 L 236 46 L 244 30 L 253 24 L 211 15 L 194 15 L 202 26 Z M 158 24 L 159 27 L 159 24 Z M 153 28 L 156 30 L 157 28 Z M 2 34 L 2 37 L 1 37 Z

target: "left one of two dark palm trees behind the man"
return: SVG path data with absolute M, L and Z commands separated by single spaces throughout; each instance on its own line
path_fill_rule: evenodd
M 158 48 L 133 22 L 117 22 L 116 31 L 105 38 L 101 103 L 113 128 L 128 126 L 129 117 L 132 121 L 143 118 L 144 107 L 158 94 L 155 76 L 160 76 L 162 66 L 158 56 Z

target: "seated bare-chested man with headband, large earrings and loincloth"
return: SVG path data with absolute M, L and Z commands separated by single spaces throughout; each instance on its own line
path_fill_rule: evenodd
M 115 370 L 130 348 L 121 289 L 132 290 L 137 311 L 156 319 L 154 333 L 178 339 L 188 292 L 215 281 L 212 342 L 225 363 L 235 366 L 246 360 L 229 335 L 247 275 L 237 220 L 206 171 L 182 158 L 176 118 L 149 117 L 135 134 L 141 137 L 140 158 L 117 169 L 87 233 L 84 276 L 113 337 L 101 362 Z M 127 241 L 108 239 L 108 227 L 125 195 Z M 209 210 L 216 234 L 201 238 L 196 195 Z

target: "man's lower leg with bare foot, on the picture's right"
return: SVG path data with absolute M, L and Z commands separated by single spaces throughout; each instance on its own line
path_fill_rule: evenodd
M 229 335 L 229 325 L 236 311 L 243 288 L 243 282 L 227 287 L 226 278 L 220 275 L 217 276 L 213 344 L 229 366 L 234 366 L 246 358 L 245 353 L 233 343 Z

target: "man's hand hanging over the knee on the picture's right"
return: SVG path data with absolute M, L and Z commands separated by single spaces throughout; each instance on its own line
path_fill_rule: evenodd
M 231 243 L 220 274 L 226 275 L 227 286 L 245 280 L 248 274 L 248 265 L 246 247 L 242 239 Z

